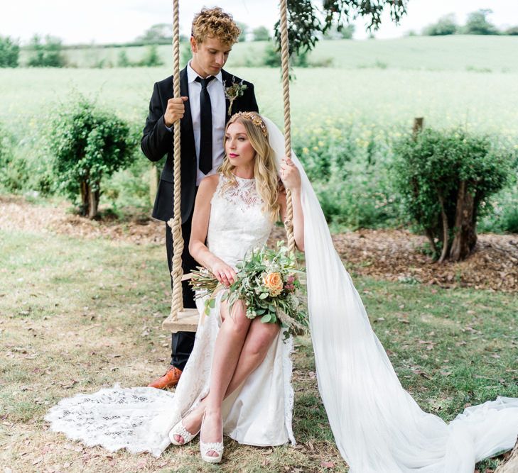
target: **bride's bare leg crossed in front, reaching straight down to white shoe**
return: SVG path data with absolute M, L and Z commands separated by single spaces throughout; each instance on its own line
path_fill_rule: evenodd
M 201 438 L 203 443 L 221 442 L 222 440 L 221 404 L 252 322 L 245 316 L 244 305 L 241 301 L 234 304 L 232 316 L 228 314 L 226 302 L 221 304 L 221 313 L 224 321 L 217 333 L 210 372 L 209 394 L 203 403 L 205 404 L 205 421 L 203 421 L 203 438 Z M 217 452 L 212 450 L 207 452 L 207 455 L 218 456 Z

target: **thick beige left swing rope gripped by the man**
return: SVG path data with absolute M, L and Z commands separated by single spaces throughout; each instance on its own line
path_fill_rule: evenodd
M 178 18 L 178 0 L 173 0 L 173 97 L 180 96 L 180 28 Z M 183 236 L 180 208 L 180 120 L 177 120 L 175 123 L 173 123 L 173 130 L 174 215 L 173 218 L 168 221 L 168 226 L 171 227 L 171 233 L 173 234 L 173 270 L 171 271 L 171 277 L 173 278 L 173 293 L 171 296 L 171 318 L 173 321 L 177 321 L 178 312 L 183 311 Z

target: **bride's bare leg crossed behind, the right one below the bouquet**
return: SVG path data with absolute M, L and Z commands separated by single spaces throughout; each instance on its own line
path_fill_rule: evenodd
M 249 374 L 261 365 L 279 330 L 281 327 L 276 323 L 262 323 L 260 318 L 252 321 L 225 398 L 230 396 L 249 377 Z

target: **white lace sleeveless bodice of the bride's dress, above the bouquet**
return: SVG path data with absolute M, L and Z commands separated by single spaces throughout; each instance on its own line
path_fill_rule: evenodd
M 266 243 L 274 223 L 263 211 L 255 179 L 236 177 L 230 187 L 225 186 L 227 182 L 229 179 L 220 174 L 210 201 L 207 245 L 227 265 L 235 266 L 249 250 Z

